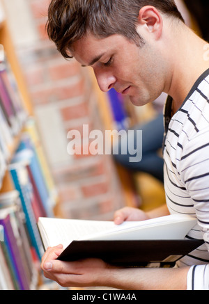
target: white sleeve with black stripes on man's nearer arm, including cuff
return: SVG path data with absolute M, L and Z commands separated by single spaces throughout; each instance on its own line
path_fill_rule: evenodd
M 209 251 L 209 127 L 190 138 L 180 159 L 180 178 L 194 202 L 196 217 Z M 187 275 L 187 289 L 209 289 L 209 264 L 195 265 Z

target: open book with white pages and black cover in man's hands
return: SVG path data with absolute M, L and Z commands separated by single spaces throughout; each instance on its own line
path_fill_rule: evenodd
M 123 266 L 145 266 L 153 262 L 173 265 L 203 243 L 203 240 L 185 239 L 195 225 L 196 218 L 177 214 L 121 225 L 65 218 L 38 220 L 45 250 L 48 246 L 63 245 L 58 259 L 98 257 Z

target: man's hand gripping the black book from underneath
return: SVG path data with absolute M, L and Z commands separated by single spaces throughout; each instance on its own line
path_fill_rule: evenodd
M 61 245 L 47 248 L 41 263 L 46 278 L 58 282 L 63 287 L 88 287 L 104 284 L 111 266 L 101 259 L 62 262 L 56 259 L 62 251 Z

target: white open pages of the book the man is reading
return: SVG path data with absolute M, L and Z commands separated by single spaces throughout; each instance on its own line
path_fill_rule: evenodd
M 39 218 L 38 228 L 45 248 L 62 243 L 63 248 L 75 240 L 146 240 L 184 239 L 196 225 L 193 216 L 172 214 L 146 221 L 86 221 L 65 218 Z

